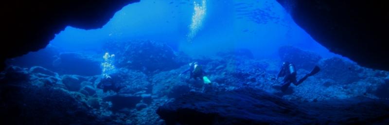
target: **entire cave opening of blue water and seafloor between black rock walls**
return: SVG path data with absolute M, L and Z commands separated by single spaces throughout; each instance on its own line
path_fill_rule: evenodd
M 329 52 L 276 0 L 141 0 L 76 27 L 6 61 L 2 125 L 388 121 L 389 72 Z M 285 89 L 281 67 L 305 81 Z

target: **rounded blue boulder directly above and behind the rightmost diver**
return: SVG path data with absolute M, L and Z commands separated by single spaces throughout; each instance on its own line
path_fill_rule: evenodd
M 297 69 L 311 71 L 321 56 L 313 52 L 303 51 L 293 46 L 283 46 L 278 50 L 281 61 L 293 63 Z

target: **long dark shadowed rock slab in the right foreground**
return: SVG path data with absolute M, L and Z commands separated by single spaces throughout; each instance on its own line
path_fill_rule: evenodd
M 189 93 L 157 110 L 168 125 L 385 124 L 389 101 L 355 97 L 293 103 L 256 89 Z

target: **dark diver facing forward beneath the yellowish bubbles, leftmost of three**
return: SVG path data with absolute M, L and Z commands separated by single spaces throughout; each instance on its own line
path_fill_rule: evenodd
M 115 76 L 113 76 L 115 77 Z M 97 85 L 97 88 L 99 89 L 103 89 L 103 92 L 107 92 L 107 91 L 114 91 L 116 93 L 118 93 L 121 89 L 124 88 L 124 86 L 120 86 L 118 85 L 114 78 L 112 77 L 104 77 L 101 79 L 100 83 Z

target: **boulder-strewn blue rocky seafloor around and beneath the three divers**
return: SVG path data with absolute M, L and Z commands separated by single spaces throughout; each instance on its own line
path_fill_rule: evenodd
M 389 123 L 389 72 L 280 48 L 280 59 L 245 49 L 188 56 L 149 41 L 107 43 L 119 92 L 103 92 L 102 54 L 45 51 L 8 60 L 0 73 L 1 125 L 344 125 Z M 44 59 L 42 59 L 44 58 Z M 212 84 L 179 76 L 197 61 Z M 276 73 L 294 62 L 298 78 L 279 90 Z

